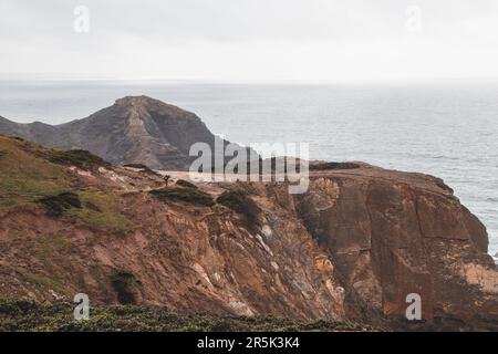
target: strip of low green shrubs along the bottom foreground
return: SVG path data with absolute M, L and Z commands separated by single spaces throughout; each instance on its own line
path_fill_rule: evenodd
M 178 314 L 164 308 L 111 305 L 90 309 L 90 319 L 75 321 L 75 304 L 37 304 L 0 301 L 1 331 L 136 331 L 136 332 L 234 332 L 234 331 L 364 331 L 372 327 L 350 323 L 302 322 L 273 316 L 242 317 L 214 314 Z

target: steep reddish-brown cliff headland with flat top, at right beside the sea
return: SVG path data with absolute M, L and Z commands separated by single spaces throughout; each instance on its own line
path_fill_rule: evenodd
M 439 179 L 364 166 L 317 175 L 298 200 L 303 223 L 369 306 L 404 317 L 417 293 L 429 325 L 498 324 L 486 229 Z

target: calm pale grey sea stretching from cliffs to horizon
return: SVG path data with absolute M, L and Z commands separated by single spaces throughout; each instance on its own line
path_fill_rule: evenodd
M 0 82 L 0 115 L 50 124 L 146 94 L 238 143 L 308 142 L 310 156 L 442 177 L 498 252 L 498 84 L 324 85 Z

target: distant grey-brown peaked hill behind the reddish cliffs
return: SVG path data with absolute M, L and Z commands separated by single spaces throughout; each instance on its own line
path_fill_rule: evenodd
M 18 124 L 0 117 L 0 134 L 60 149 L 86 149 L 113 164 L 144 164 L 156 169 L 188 170 L 194 143 L 215 152 L 216 137 L 194 113 L 147 96 L 120 98 L 91 116 L 51 126 Z

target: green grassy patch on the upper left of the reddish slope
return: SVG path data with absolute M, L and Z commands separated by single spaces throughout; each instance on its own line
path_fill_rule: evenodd
M 96 229 L 125 229 L 127 221 L 118 210 L 117 196 L 76 187 L 77 177 L 64 168 L 66 160 L 54 158 L 60 155 L 61 152 L 33 143 L 0 136 L 0 216 L 15 209 L 34 209 L 40 207 L 38 200 L 43 197 L 73 191 L 80 197 L 82 208 L 70 209 L 64 217 L 80 218 Z

